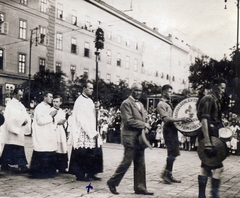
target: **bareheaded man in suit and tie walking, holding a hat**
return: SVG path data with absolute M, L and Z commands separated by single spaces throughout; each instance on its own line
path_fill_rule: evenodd
M 147 191 L 146 174 L 145 174 L 145 157 L 144 148 L 139 141 L 141 131 L 150 129 L 150 125 L 146 123 L 147 112 L 143 104 L 138 101 L 142 94 L 142 86 L 134 83 L 131 87 L 131 95 L 123 101 L 121 111 L 121 140 L 124 146 L 123 160 L 118 166 L 113 176 L 107 181 L 109 190 L 113 194 L 119 194 L 116 190 L 130 167 L 132 161 L 134 164 L 134 191 L 135 194 L 153 195 Z

